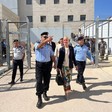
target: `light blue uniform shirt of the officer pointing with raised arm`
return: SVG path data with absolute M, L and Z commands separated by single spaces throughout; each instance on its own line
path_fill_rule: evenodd
M 36 61 L 49 62 L 51 60 L 51 56 L 54 55 L 51 46 L 49 44 L 46 44 L 42 48 L 37 48 L 39 44 L 40 42 L 36 42 L 34 45 Z

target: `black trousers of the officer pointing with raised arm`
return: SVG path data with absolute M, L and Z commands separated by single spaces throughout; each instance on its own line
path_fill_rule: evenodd
M 36 95 L 41 95 L 43 92 L 49 90 L 50 83 L 50 62 L 37 62 L 36 61 Z

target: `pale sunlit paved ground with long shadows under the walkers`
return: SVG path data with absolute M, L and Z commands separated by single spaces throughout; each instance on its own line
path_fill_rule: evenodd
M 76 84 L 76 71 L 73 70 L 72 90 L 66 101 L 62 86 L 55 82 L 56 71 L 52 71 L 50 101 L 37 109 L 35 95 L 35 69 L 24 70 L 24 82 L 20 83 L 19 72 L 16 84 L 10 86 L 11 70 L 0 76 L 0 112 L 112 112 L 112 67 L 94 68 L 89 65 L 85 70 L 87 91 Z

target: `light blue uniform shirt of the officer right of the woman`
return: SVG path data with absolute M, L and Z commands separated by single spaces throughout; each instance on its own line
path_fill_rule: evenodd
M 86 56 L 93 61 L 93 57 L 86 45 L 80 46 L 79 44 L 74 48 L 75 59 L 77 61 L 86 61 Z

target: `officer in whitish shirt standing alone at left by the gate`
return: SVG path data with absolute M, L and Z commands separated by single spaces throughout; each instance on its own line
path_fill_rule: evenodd
M 18 40 L 13 41 L 13 72 L 12 72 L 12 81 L 9 84 L 15 84 L 15 77 L 17 72 L 17 66 L 19 66 L 20 70 L 20 81 L 23 81 L 23 60 L 25 57 L 24 47 L 19 45 Z

